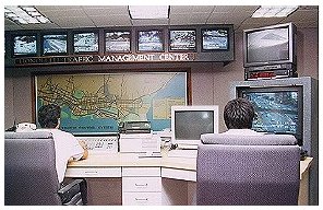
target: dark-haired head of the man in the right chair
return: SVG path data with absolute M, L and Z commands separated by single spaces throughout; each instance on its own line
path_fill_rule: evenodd
M 228 129 L 251 129 L 254 115 L 251 102 L 241 97 L 229 101 L 224 109 Z

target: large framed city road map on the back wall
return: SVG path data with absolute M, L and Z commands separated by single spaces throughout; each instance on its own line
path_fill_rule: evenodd
M 117 132 L 130 120 L 170 128 L 170 107 L 187 104 L 187 72 L 46 74 L 35 82 L 36 109 L 60 105 L 61 129 L 72 133 Z

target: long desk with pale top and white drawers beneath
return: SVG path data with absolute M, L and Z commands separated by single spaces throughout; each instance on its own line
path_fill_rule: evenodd
M 128 202 L 127 195 L 132 196 L 131 192 L 152 196 L 149 200 L 154 201 L 153 205 L 195 205 L 195 159 L 168 158 L 165 152 L 162 154 L 162 158 L 139 158 L 134 153 L 89 153 L 87 160 L 69 163 L 65 177 L 87 178 L 89 205 L 144 205 L 143 201 L 147 201 Z M 311 162 L 312 158 L 300 162 L 299 205 L 308 205 Z M 147 188 L 146 191 L 143 189 L 140 192 L 125 187 L 129 182 L 140 182 L 141 177 L 155 182 L 157 187 L 149 189 L 149 184 L 145 184 L 141 187 Z M 141 184 L 135 185 L 140 187 Z

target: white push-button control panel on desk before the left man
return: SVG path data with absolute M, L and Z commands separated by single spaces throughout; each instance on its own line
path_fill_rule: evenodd
M 80 136 L 76 139 L 85 141 L 88 151 L 118 152 L 118 136 Z

